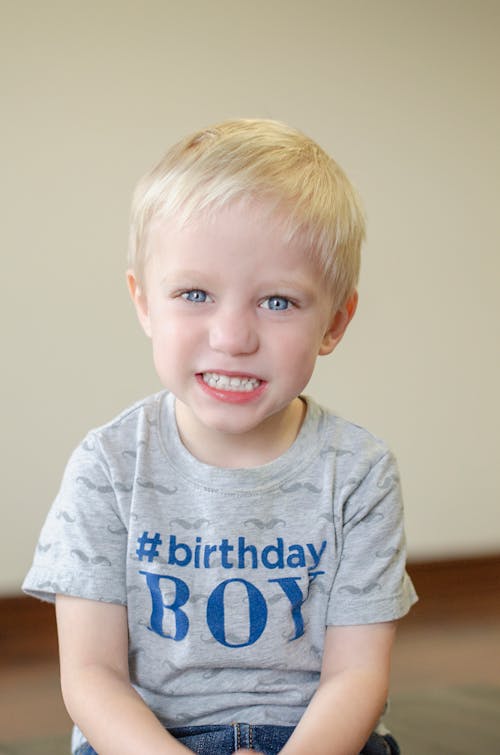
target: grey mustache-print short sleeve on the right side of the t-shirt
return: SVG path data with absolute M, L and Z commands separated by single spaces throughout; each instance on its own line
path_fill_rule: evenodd
M 396 461 L 386 452 L 355 486 L 337 518 L 342 553 L 327 624 L 392 621 L 417 596 L 405 570 L 403 504 Z

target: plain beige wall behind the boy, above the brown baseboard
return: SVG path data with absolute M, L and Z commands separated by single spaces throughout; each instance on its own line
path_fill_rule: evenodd
M 499 9 L 2 2 L 0 592 L 71 448 L 157 387 L 124 286 L 133 183 L 231 116 L 302 128 L 362 193 L 359 312 L 310 390 L 398 454 L 410 554 L 500 550 Z

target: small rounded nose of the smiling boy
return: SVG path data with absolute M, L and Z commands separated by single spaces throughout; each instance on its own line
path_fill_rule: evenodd
M 210 347 L 230 356 L 253 354 L 259 348 L 256 315 L 240 307 L 219 309 L 211 317 Z

